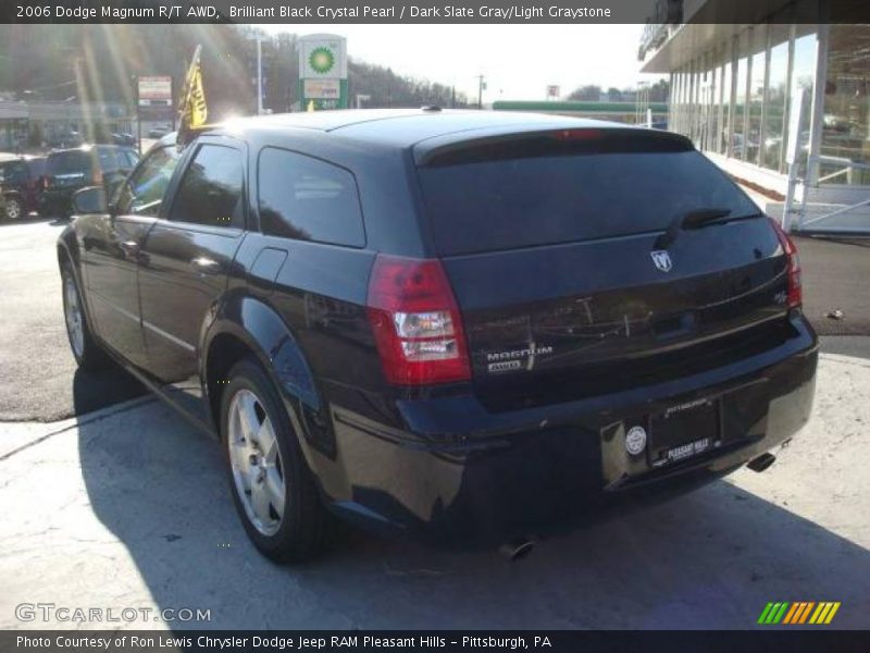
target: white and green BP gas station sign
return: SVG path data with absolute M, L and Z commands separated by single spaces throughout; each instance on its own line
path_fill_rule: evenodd
M 299 39 L 301 109 L 347 109 L 347 40 L 333 34 Z

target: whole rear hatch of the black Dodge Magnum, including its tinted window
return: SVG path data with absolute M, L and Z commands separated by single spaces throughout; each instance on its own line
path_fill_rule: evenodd
M 490 409 L 664 381 L 795 335 L 769 220 L 680 136 L 500 136 L 418 152 L 418 165 Z

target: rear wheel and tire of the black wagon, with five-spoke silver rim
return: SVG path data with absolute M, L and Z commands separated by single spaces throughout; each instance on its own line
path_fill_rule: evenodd
M 229 490 L 245 531 L 269 559 L 285 564 L 325 549 L 333 517 L 278 393 L 254 358 L 236 364 L 221 396 Z

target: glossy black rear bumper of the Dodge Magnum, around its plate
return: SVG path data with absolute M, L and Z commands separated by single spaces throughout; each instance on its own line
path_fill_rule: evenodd
M 398 402 L 406 428 L 395 429 L 333 405 L 337 459 L 319 476 L 352 520 L 462 544 L 660 501 L 781 445 L 809 419 L 818 344 L 803 317 L 792 319 L 799 336 L 774 350 L 556 406 L 490 414 L 470 396 Z M 625 451 L 632 426 L 709 397 L 719 405 L 716 447 L 658 468 Z

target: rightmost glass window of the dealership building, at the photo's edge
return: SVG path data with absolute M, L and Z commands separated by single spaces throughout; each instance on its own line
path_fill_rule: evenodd
M 831 25 L 819 182 L 870 184 L 870 25 Z

